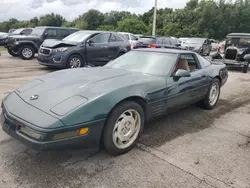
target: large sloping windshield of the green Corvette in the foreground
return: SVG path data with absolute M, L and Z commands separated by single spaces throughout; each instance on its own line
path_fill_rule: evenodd
M 109 62 L 105 67 L 123 69 L 153 75 L 166 75 L 171 72 L 177 54 L 130 51 Z

